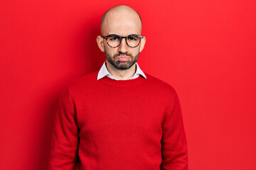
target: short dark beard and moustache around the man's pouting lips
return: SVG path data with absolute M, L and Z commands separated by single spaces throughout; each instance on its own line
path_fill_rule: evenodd
M 120 57 L 122 55 L 126 55 L 127 57 L 130 57 L 131 60 L 128 60 L 127 62 L 119 62 L 117 57 Z M 105 56 L 107 58 L 107 61 L 110 62 L 110 64 L 112 64 L 115 68 L 117 68 L 117 69 L 129 69 L 130 67 L 133 66 L 133 64 L 135 64 L 135 62 L 137 62 L 137 60 L 139 58 L 139 52 L 135 56 L 129 55 L 128 53 L 119 52 L 117 55 L 114 55 L 112 57 L 105 50 Z

